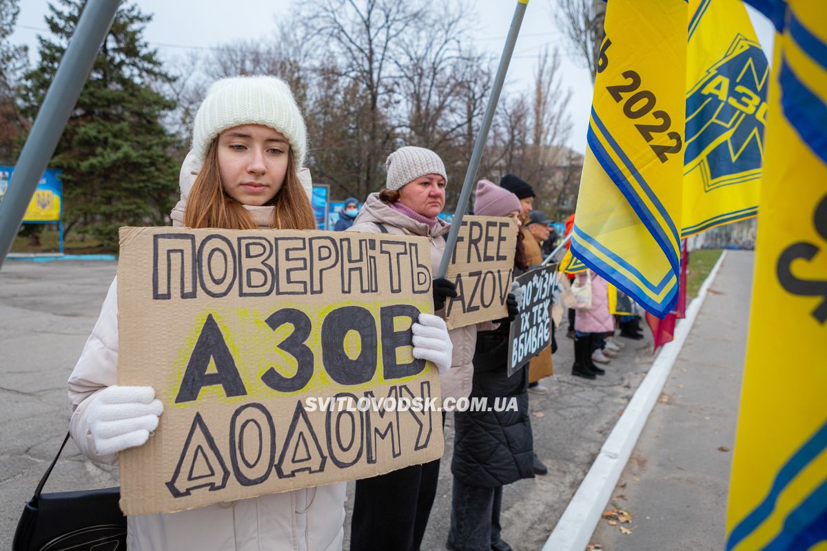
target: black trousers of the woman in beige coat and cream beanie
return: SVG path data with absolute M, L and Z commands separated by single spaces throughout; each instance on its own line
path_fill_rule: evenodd
M 439 459 L 357 480 L 351 551 L 419 551 L 437 482 Z

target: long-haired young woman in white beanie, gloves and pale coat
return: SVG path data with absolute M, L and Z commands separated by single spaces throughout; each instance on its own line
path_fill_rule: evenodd
M 190 228 L 315 229 L 309 178 L 299 170 L 307 151 L 304 119 L 284 81 L 225 78 L 213 84 L 195 116 L 193 148 L 181 170 L 181 200 L 174 226 Z M 69 378 L 70 431 L 80 451 L 114 463 L 123 449 L 140 446 L 162 415 L 152 387 L 115 384 L 118 350 L 117 279 L 98 323 Z M 444 358 L 451 344 L 444 323 L 423 314 L 414 355 Z M 427 344 L 437 343 L 438 350 Z M 447 354 L 446 354 L 447 349 Z M 436 362 L 439 363 L 439 362 Z M 127 546 L 237 551 L 332 551 L 342 548 L 345 484 L 254 497 L 165 515 L 127 519 Z

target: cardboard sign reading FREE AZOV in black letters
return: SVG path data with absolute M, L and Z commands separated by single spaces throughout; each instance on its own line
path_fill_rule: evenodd
M 508 315 L 517 222 L 504 216 L 463 216 L 457 246 L 445 275 L 457 297 L 445 303 L 449 329 Z

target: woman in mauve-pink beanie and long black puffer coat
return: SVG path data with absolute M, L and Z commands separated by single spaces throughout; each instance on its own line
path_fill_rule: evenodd
M 477 183 L 474 214 L 509 216 L 517 221 L 515 274 L 528 268 L 519 212 L 520 201 L 514 193 L 488 180 Z M 454 414 L 454 480 L 447 540 L 447 549 L 451 551 L 509 551 L 511 547 L 500 537 L 503 487 L 521 478 L 534 477 L 528 369 L 520 369 L 509 377 L 511 324 L 508 319 L 499 321 L 497 329 L 477 332 L 471 400 L 485 397 L 489 404 L 494 404 L 500 398 L 506 401 L 504 411 Z M 516 404 L 516 410 L 510 403 Z

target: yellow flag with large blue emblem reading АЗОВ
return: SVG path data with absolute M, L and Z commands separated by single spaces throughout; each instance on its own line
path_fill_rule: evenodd
M 741 0 L 689 0 L 681 235 L 758 213 L 769 66 Z

